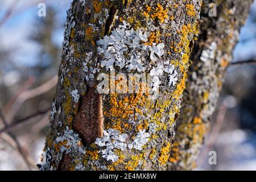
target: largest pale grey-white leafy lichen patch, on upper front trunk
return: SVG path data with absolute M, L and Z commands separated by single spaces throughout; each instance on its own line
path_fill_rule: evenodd
M 153 44 L 146 46 L 142 42 L 148 41 L 150 35 L 147 31 L 130 28 L 130 24 L 123 21 L 112 31 L 110 36 L 106 35 L 103 39 L 97 41 L 98 53 L 104 55 L 101 61 L 102 67 L 113 69 L 114 66 L 127 68 L 128 71 L 144 71 L 143 63 L 146 63 L 146 57 L 150 56 L 152 61 L 164 54 L 164 44 Z M 158 56 L 158 57 L 156 57 Z

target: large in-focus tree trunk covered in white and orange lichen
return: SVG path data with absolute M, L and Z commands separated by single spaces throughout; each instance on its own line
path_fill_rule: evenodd
M 73 1 L 39 169 L 166 169 L 200 9 L 201 0 Z M 152 82 L 117 93 L 127 91 L 117 73 Z M 96 89 L 101 74 L 115 78 L 110 93 Z

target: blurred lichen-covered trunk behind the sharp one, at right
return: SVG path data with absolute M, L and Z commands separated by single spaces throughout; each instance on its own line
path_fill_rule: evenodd
M 208 16 L 209 3 L 216 3 L 217 17 Z M 193 169 L 209 130 L 226 67 L 245 23 L 252 1 L 204 1 L 199 40 L 191 53 L 180 118 L 168 169 Z

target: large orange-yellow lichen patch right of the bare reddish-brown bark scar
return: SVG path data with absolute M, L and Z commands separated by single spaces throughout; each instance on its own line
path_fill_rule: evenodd
M 115 81 L 112 84 L 117 86 L 118 83 L 118 81 Z M 121 133 L 131 130 L 139 131 L 141 129 L 147 129 L 148 121 L 146 119 L 139 120 L 138 115 L 144 115 L 145 107 L 151 106 L 151 100 L 148 97 L 149 93 L 146 85 L 142 83 L 135 83 L 135 85 L 139 86 L 139 93 L 137 94 L 122 96 L 118 93 L 110 93 L 109 107 L 104 110 L 104 115 L 109 120 L 109 122 L 105 124 L 107 129 L 111 127 Z M 129 88 L 126 89 L 127 92 L 131 91 Z M 135 86 L 133 87 L 133 92 L 134 91 Z M 140 124 L 134 128 L 129 124 L 130 119 Z

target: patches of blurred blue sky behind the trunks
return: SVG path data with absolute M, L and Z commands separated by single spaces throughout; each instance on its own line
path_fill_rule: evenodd
M 0 2 L 0 19 L 3 14 L 12 5 L 14 0 L 1 0 Z M 0 49 L 11 49 L 11 57 L 15 64 L 19 66 L 30 66 L 37 63 L 36 55 L 39 46 L 28 40 L 28 36 L 34 27 L 36 18 L 38 18 L 38 3 L 36 0 L 20 0 L 15 6 L 14 15 L 0 27 Z M 63 24 L 66 18 L 66 11 L 72 0 L 44 0 L 47 6 L 52 6 L 57 12 L 57 23 Z M 34 6 L 31 6 L 34 5 Z M 254 16 L 256 16 L 256 3 L 253 5 Z M 53 32 L 53 42 L 59 46 L 63 42 L 64 27 L 58 28 Z M 256 23 L 252 23 L 252 18 L 247 20 L 246 26 L 241 31 L 241 43 L 238 43 L 235 51 L 235 60 L 245 59 L 246 57 L 256 57 Z

